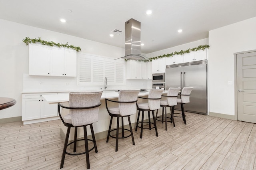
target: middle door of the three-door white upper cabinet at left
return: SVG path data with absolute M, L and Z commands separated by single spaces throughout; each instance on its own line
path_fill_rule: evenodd
M 64 48 L 50 48 L 50 75 L 64 76 Z

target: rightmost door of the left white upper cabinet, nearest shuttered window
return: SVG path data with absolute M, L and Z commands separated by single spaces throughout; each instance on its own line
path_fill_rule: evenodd
M 76 77 L 76 50 L 64 49 L 64 76 Z

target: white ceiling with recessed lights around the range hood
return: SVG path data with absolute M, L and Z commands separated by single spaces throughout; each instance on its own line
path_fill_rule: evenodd
M 0 0 L 1 19 L 123 48 L 124 32 L 109 34 L 133 18 L 141 22 L 142 53 L 208 38 L 210 30 L 255 16 L 256 0 Z

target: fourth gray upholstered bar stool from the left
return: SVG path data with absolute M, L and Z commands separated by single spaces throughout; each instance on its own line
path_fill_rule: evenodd
M 178 97 L 179 91 L 180 91 L 180 87 L 178 87 L 178 88 L 170 87 L 168 89 L 167 95 L 162 95 L 164 97 L 167 97 L 167 100 L 160 101 L 160 106 L 162 107 L 162 116 L 157 117 L 157 114 L 156 114 L 156 120 L 162 121 L 162 123 L 164 123 L 164 119 L 165 119 L 165 130 L 167 130 L 167 122 L 173 123 L 173 127 L 175 127 L 175 123 L 174 123 L 174 119 L 173 119 L 172 106 L 177 105 L 177 97 Z M 170 117 L 166 116 L 166 114 L 167 114 L 166 113 L 166 107 L 170 107 Z M 165 112 L 165 117 L 164 117 L 164 112 Z M 160 120 L 159 118 L 162 118 L 162 120 Z M 167 121 L 167 118 L 169 118 L 170 121 Z

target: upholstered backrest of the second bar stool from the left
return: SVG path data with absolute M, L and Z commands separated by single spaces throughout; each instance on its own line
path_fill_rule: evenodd
M 136 101 L 139 95 L 140 89 L 135 90 L 120 90 L 118 101 L 129 102 Z M 136 113 L 136 102 L 134 103 L 119 103 L 119 111 L 121 116 L 133 115 Z

